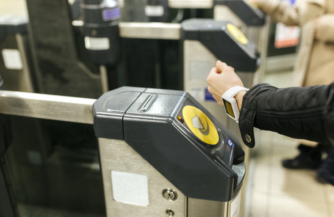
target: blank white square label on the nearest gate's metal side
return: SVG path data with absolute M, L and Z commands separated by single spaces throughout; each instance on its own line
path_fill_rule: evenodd
M 111 182 L 114 200 L 145 207 L 150 205 L 146 175 L 111 171 Z

